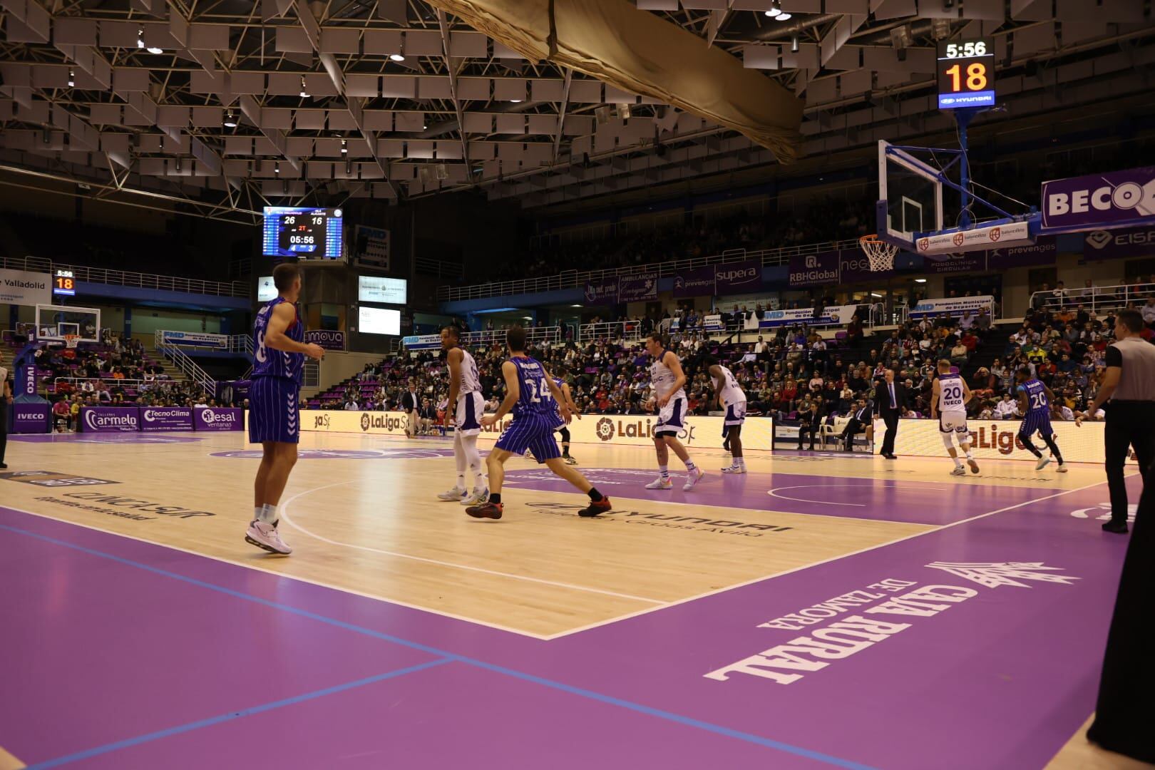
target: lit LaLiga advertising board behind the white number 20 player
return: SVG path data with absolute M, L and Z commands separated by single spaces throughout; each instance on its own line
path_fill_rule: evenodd
M 1102 421 L 1074 423 L 1051 420 L 1055 428 L 1056 443 L 1063 453 L 1063 459 L 1072 463 L 1103 462 L 1103 426 Z M 1035 456 L 1022 448 L 1016 439 L 1019 420 L 970 420 L 971 449 L 975 457 L 982 459 L 1023 459 L 1035 462 Z M 882 440 L 886 425 L 874 420 L 874 441 Z M 745 435 L 743 436 L 745 439 Z M 1042 441 L 1035 441 L 1042 447 Z M 1045 447 L 1043 448 L 1045 451 Z M 919 457 L 941 457 L 947 462 L 946 450 L 939 433 L 938 420 L 902 419 L 899 420 L 899 435 L 895 438 L 896 455 L 915 455 Z M 1128 461 L 1133 462 L 1133 461 Z M 1053 468 L 1053 466 L 1052 466 Z M 1044 473 L 1051 472 L 1043 471 Z

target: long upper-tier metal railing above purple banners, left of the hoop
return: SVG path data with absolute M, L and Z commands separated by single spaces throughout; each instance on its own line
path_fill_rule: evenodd
M 802 246 L 783 246 L 781 248 L 745 249 L 731 248 L 711 256 L 695 256 L 687 260 L 670 260 L 650 264 L 631 264 L 609 270 L 566 270 L 554 276 L 542 278 L 521 278 L 516 281 L 499 281 L 471 286 L 440 286 L 437 290 L 439 301 L 459 299 L 480 299 L 485 297 L 505 297 L 507 294 L 532 294 L 558 289 L 584 289 L 587 282 L 612 278 L 616 276 L 656 272 L 660 278 L 671 277 L 684 270 L 693 270 L 709 264 L 730 264 L 753 260 L 762 267 L 787 264 L 792 256 L 821 254 L 835 249 L 858 248 L 857 239 L 804 244 Z

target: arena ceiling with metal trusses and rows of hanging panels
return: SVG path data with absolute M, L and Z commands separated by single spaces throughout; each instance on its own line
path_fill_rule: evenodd
M 1153 87 L 1155 22 L 1135 0 L 635 0 L 605 37 L 618 48 L 644 29 L 692 35 L 686 62 L 711 51 L 660 73 L 664 90 L 527 59 L 446 12 L 476 22 L 501 2 L 0 0 L 0 181 L 230 218 L 470 188 L 534 207 L 948 127 L 932 106 L 945 38 L 994 38 L 1020 114 Z M 738 103 L 797 98 L 800 134 L 736 122 L 707 76 Z

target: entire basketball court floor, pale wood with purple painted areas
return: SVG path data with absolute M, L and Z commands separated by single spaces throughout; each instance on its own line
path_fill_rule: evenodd
M 612 514 L 514 459 L 489 522 L 431 502 L 448 442 L 308 433 L 275 558 L 241 434 L 13 444 L 6 768 L 260 767 L 273 732 L 301 768 L 1044 767 L 1126 547 L 1090 464 L 699 449 L 656 492 L 653 451 L 575 444 Z M 1053 767 L 1119 767 L 1074 742 Z

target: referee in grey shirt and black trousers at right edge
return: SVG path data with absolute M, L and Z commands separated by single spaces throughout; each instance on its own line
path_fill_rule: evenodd
M 1135 448 L 1139 471 L 1145 477 L 1155 459 L 1155 345 L 1139 336 L 1142 330 L 1143 316 L 1138 311 L 1122 311 L 1115 319 L 1106 373 L 1090 404 L 1091 414 L 1104 404 L 1106 411 L 1103 444 L 1111 521 L 1103 529 L 1108 532 L 1127 531 L 1127 484 L 1123 474 L 1127 449 Z

